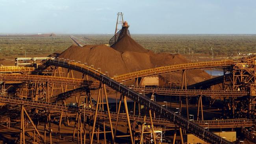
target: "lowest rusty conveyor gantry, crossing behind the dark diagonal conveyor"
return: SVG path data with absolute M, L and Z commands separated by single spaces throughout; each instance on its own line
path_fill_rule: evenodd
M 0 96 L 0 102 L 11 104 L 11 105 L 26 105 L 28 107 L 32 108 L 38 108 L 38 109 L 49 109 L 50 111 L 59 111 L 59 112 L 68 112 L 68 113 L 76 113 L 79 111 L 80 113 L 83 113 L 85 111 L 86 116 L 94 116 L 95 110 L 94 109 L 87 109 L 83 107 L 72 107 L 67 105 L 59 105 L 56 103 L 49 103 L 49 102 L 39 102 L 39 101 L 33 101 L 33 100 L 25 100 L 21 98 L 12 98 L 7 96 Z M 110 113 L 111 119 L 116 120 L 117 119 L 117 113 L 111 112 Z M 98 117 L 100 118 L 106 118 L 108 117 L 107 111 L 98 111 Z M 143 121 L 143 116 L 136 116 L 136 115 L 129 115 L 130 120 L 132 121 Z M 119 120 L 127 121 L 127 117 L 124 114 L 119 114 Z M 169 126 L 169 127 L 175 127 L 173 122 L 170 122 L 167 119 L 164 118 L 152 118 L 154 125 L 163 125 L 163 126 Z M 145 122 L 147 124 L 150 124 L 150 118 L 146 117 Z M 255 124 L 255 121 L 249 120 L 249 119 L 229 119 L 229 120 L 204 120 L 204 121 L 194 121 L 196 124 L 210 128 L 234 128 L 234 127 L 250 127 Z M 208 123 L 208 124 L 205 124 Z

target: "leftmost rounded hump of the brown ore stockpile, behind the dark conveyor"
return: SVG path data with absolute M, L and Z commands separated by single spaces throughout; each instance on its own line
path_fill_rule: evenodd
M 121 53 L 102 45 L 85 45 L 83 47 L 72 45 L 59 55 L 60 58 L 81 61 L 95 69 L 101 68 L 102 72 L 109 72 L 109 76 L 127 72 L 122 61 Z

